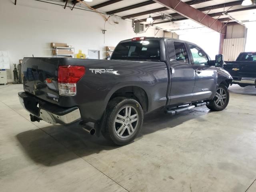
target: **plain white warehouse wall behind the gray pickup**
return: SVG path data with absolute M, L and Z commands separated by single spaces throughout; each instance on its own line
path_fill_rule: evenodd
M 58 2 L 59 3 L 59 2 Z M 114 25 L 114 21 L 119 24 Z M 52 57 L 50 42 L 73 45 L 88 54 L 88 49 L 100 50 L 105 58 L 105 46 L 116 46 L 120 40 L 135 36 L 154 36 L 150 28 L 146 34 L 134 34 L 130 21 L 110 18 L 106 22 L 105 43 L 102 29 L 104 19 L 97 13 L 38 2 L 35 0 L 0 1 L 0 50 L 9 52 L 8 82 L 13 81 L 13 63 L 23 57 Z M 164 36 L 159 31 L 157 36 Z

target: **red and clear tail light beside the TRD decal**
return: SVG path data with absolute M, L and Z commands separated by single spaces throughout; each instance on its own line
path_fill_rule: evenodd
M 75 96 L 76 83 L 84 76 L 84 66 L 63 65 L 58 68 L 58 89 L 61 96 Z

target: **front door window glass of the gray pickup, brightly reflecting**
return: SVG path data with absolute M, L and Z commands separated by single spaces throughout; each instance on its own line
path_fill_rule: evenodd
M 208 56 L 197 46 L 189 45 L 195 65 L 208 65 Z

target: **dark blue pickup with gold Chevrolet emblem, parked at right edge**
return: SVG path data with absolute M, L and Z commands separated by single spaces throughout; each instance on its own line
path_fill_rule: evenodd
M 242 52 L 236 61 L 225 61 L 224 69 L 232 78 L 232 84 L 241 87 L 256 86 L 256 52 Z

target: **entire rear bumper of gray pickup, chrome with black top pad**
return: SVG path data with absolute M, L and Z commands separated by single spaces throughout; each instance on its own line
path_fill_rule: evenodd
M 18 97 L 24 109 L 50 124 L 71 124 L 81 119 L 78 107 L 61 108 L 49 104 L 48 102 L 38 100 L 35 96 L 26 92 L 19 92 Z

